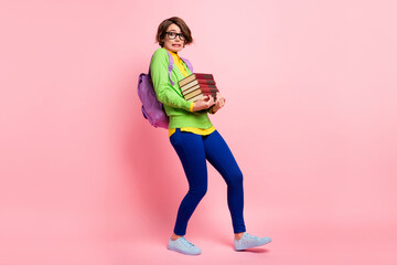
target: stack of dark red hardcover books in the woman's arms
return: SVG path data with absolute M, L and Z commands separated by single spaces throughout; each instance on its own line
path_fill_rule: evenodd
M 183 97 L 189 102 L 196 102 L 203 96 L 213 96 L 216 99 L 218 92 L 212 74 L 193 73 L 178 83 Z

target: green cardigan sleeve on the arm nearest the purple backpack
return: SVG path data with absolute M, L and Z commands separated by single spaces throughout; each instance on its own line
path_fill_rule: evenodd
M 189 112 L 192 103 L 186 102 L 174 91 L 170 83 L 168 66 L 169 57 L 167 51 L 158 49 L 150 63 L 150 74 L 155 95 L 162 104 Z

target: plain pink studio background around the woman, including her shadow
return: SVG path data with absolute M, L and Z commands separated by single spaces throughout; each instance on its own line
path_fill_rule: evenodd
M 397 264 L 395 1 L 0 1 L 0 264 Z M 212 117 L 245 176 L 233 251 L 226 184 L 165 248 L 187 190 L 137 77 L 172 15 L 226 97 Z

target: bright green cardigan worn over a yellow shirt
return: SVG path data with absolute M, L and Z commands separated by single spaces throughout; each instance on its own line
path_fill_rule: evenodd
M 175 63 L 171 72 L 171 80 L 174 85 L 171 85 L 169 78 L 169 55 L 165 49 L 159 47 L 155 50 L 150 63 L 150 74 L 153 82 L 155 95 L 164 106 L 167 115 L 170 117 L 169 128 L 194 127 L 201 129 L 211 128 L 213 125 L 208 118 L 207 112 L 191 113 L 191 102 L 183 98 L 178 81 L 185 76 L 178 68 Z M 183 63 L 184 64 L 184 63 Z M 184 64 L 189 74 L 192 72 Z

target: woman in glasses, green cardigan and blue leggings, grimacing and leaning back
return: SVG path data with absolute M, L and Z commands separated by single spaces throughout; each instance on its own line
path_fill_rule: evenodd
M 173 234 L 168 248 L 187 255 L 197 255 L 201 250 L 184 235 L 190 218 L 207 190 L 206 160 L 222 174 L 227 183 L 227 203 L 232 215 L 236 251 L 269 243 L 269 237 L 246 233 L 243 218 L 243 174 L 225 140 L 212 125 L 207 113 L 215 114 L 225 105 L 225 98 L 217 94 L 204 96 L 195 103 L 186 102 L 178 81 L 191 74 L 178 53 L 193 42 L 186 23 L 176 17 L 161 22 L 155 38 L 160 46 L 153 54 L 150 68 L 158 99 L 163 104 L 170 118 L 169 136 L 189 182 L 189 192 L 178 211 Z M 174 65 L 169 77 L 169 53 Z

